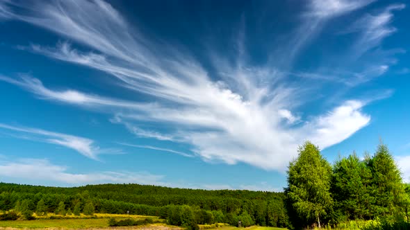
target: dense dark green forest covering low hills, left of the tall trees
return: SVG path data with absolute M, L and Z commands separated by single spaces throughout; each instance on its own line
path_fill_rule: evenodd
M 57 188 L 0 183 L 0 209 L 37 214 L 127 213 L 155 215 L 174 225 L 186 218 L 197 224 L 226 222 L 243 226 L 286 227 L 284 194 L 206 191 L 138 184 L 101 184 Z M 91 210 L 91 211 L 90 211 Z

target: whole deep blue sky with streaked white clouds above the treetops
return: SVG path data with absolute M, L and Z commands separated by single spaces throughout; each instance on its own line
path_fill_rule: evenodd
M 405 1 L 0 0 L 0 181 L 282 191 L 382 140 L 410 182 Z

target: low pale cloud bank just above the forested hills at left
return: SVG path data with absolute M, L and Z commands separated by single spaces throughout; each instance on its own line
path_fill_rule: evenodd
M 163 175 L 149 172 L 92 172 L 71 173 L 66 166 L 50 163 L 47 159 L 18 159 L 0 161 L 0 176 L 32 181 L 33 178 L 47 182 L 60 182 L 67 185 L 85 184 L 156 184 L 163 185 Z

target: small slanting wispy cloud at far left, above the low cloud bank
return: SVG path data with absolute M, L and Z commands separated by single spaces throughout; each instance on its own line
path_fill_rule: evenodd
M 58 132 L 50 132 L 47 130 L 40 130 L 33 127 L 13 126 L 0 123 L 0 129 L 10 130 L 13 132 L 28 134 L 23 135 L 21 138 L 30 139 L 33 141 L 41 141 L 46 143 L 52 143 L 56 145 L 62 145 L 66 148 L 71 148 L 83 154 L 85 157 L 91 159 L 97 159 L 99 152 L 104 152 L 98 146 L 94 144 L 91 139 L 86 139 L 80 136 L 72 136 L 68 134 L 62 134 Z M 16 136 L 16 135 L 15 135 Z M 19 137 L 17 135 L 16 137 Z

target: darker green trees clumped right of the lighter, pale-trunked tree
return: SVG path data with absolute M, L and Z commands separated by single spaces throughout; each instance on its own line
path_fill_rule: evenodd
M 352 154 L 336 161 L 331 192 L 339 222 L 408 216 L 409 196 L 400 170 L 384 144 L 363 160 Z

